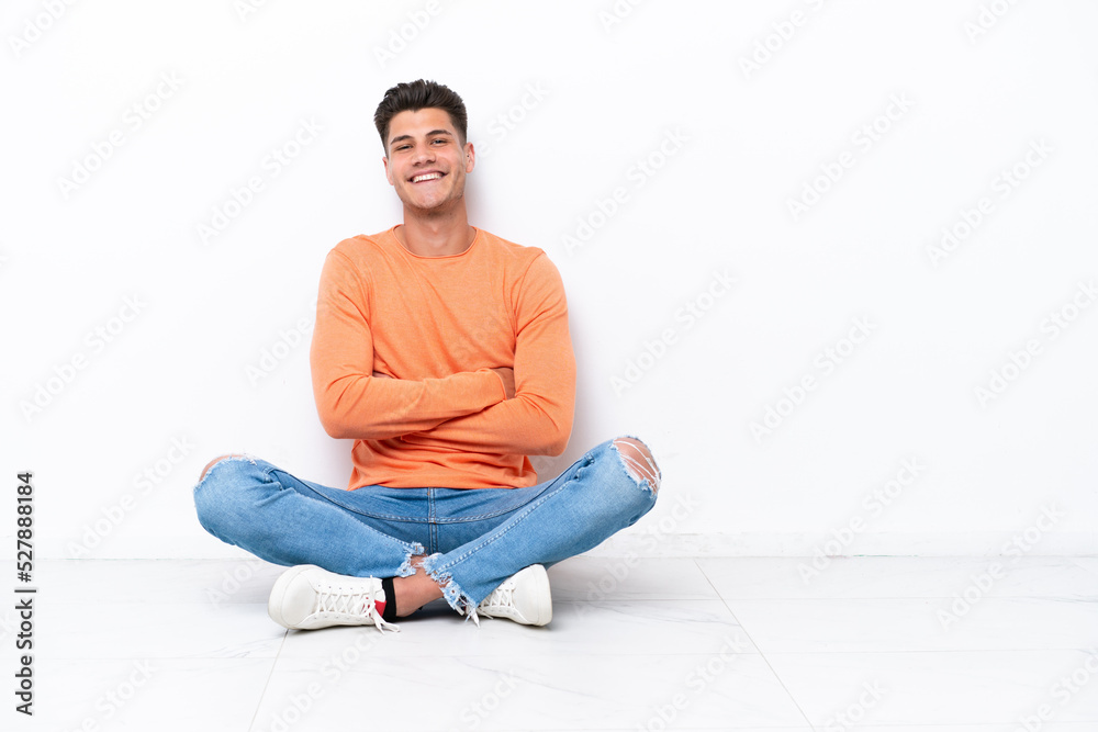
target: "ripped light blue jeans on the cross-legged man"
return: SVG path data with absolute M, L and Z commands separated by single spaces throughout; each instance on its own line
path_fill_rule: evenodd
M 636 523 L 659 482 L 659 469 L 621 454 L 617 440 L 551 481 L 509 489 L 344 491 L 234 457 L 194 486 L 194 505 L 206 531 L 274 564 L 404 577 L 415 573 L 412 558 L 426 555 L 424 571 L 466 612 L 519 570 L 574 556 Z

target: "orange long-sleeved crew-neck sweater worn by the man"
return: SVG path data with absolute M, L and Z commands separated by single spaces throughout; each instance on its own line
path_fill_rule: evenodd
M 355 440 L 348 487 L 535 485 L 526 455 L 564 451 L 575 404 L 560 273 L 481 229 L 460 255 L 419 257 L 395 228 L 340 241 L 321 274 L 313 394 L 328 435 Z

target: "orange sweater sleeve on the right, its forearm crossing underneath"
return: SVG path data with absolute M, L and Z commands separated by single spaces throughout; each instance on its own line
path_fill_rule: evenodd
M 402 440 L 497 454 L 564 451 L 575 409 L 575 357 L 564 285 L 545 254 L 534 260 L 518 288 L 515 323 L 514 398 Z

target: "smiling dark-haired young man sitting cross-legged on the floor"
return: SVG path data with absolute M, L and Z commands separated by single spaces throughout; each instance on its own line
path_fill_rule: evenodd
M 544 626 L 545 567 L 647 514 L 660 471 L 619 437 L 538 483 L 527 455 L 562 453 L 572 430 L 560 274 L 542 250 L 469 225 L 460 97 L 400 83 L 374 122 L 404 224 L 328 254 L 310 354 L 321 423 L 355 440 L 349 489 L 221 455 L 194 487 L 199 520 L 293 567 L 268 604 L 285 628 L 394 628 L 439 597 L 474 620 Z

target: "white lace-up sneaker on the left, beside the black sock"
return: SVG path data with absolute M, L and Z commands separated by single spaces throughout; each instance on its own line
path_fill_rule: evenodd
M 379 630 L 400 630 L 381 618 L 384 607 L 381 579 L 348 577 L 302 564 L 283 572 L 274 582 L 267 612 L 278 624 L 295 630 L 369 624 Z

